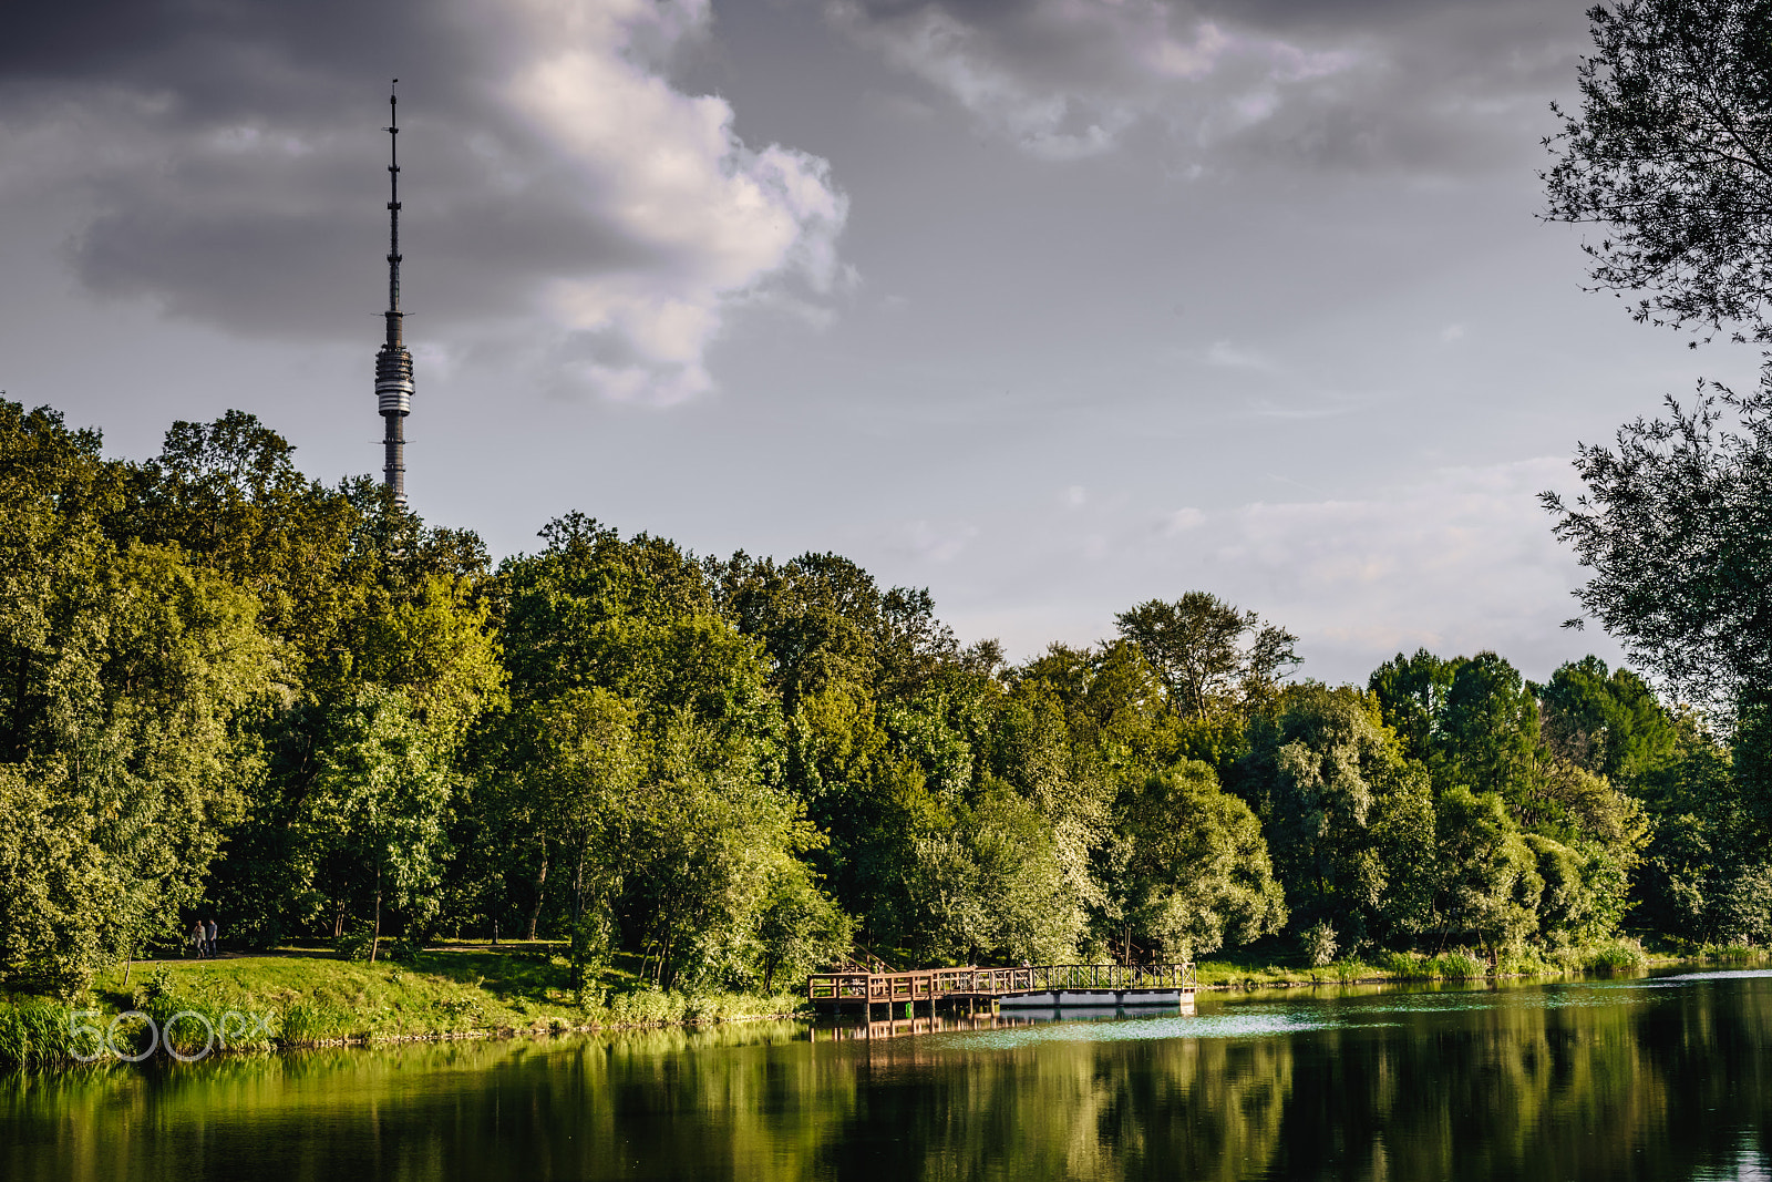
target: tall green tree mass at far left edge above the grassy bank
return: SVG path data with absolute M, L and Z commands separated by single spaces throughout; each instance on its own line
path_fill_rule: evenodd
M 177 939 L 275 673 L 252 595 L 112 540 L 131 473 L 99 443 L 0 402 L 0 976 L 60 992 Z

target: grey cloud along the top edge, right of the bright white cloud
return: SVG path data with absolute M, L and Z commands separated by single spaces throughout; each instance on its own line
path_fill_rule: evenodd
M 1582 44 L 1536 0 L 828 0 L 826 18 L 1033 156 L 1161 129 L 1194 167 L 1448 172 L 1517 156 Z M 1577 19 L 1570 19 L 1577 16 Z

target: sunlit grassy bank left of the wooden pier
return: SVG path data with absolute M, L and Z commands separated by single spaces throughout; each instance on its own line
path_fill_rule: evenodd
M 273 1049 L 338 1042 L 464 1038 L 792 1014 L 799 994 L 679 994 L 610 968 L 574 1005 L 567 966 L 546 946 L 434 950 L 367 964 L 328 953 L 136 964 L 101 975 L 73 1005 L 14 998 L 0 1005 L 0 1065 L 58 1067 L 97 1053 L 124 1056 Z M 120 1019 L 122 1014 L 144 1019 Z M 184 1015 L 184 1017 L 181 1017 Z M 195 1017 L 193 1017 L 195 1015 Z M 163 1042 L 151 1049 L 152 1031 Z M 213 1037 L 211 1037 L 213 1031 Z

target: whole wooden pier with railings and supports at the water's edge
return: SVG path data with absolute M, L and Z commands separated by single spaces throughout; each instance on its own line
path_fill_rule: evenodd
M 1040 964 L 1019 969 L 913 969 L 909 973 L 813 973 L 806 998 L 826 1014 L 854 1008 L 874 1017 L 934 1015 L 936 1005 L 976 1014 L 996 1008 L 1180 1005 L 1194 996 L 1194 966 L 1185 964 Z

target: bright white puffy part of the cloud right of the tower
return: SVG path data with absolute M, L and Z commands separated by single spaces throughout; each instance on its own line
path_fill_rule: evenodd
M 746 147 L 732 106 L 682 94 L 641 66 L 709 18 L 705 0 L 525 0 L 523 44 L 500 101 L 576 174 L 587 220 L 640 246 L 636 268 L 553 276 L 539 292 L 556 324 L 595 346 L 576 370 L 620 399 L 680 400 L 711 388 L 703 365 L 723 305 L 796 275 L 828 292 L 847 200 L 826 161 L 778 144 Z

